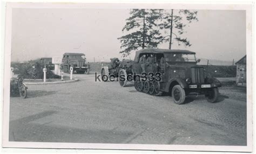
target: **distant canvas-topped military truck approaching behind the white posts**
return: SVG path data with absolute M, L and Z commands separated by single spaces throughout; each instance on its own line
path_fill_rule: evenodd
M 70 73 L 70 67 L 73 67 L 73 72 L 78 74 L 89 74 L 90 65 L 86 64 L 85 54 L 83 53 L 64 53 L 60 68 L 64 73 Z

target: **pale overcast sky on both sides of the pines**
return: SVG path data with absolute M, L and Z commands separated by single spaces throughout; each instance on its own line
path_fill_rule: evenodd
M 11 60 L 85 53 L 87 61 L 120 58 L 120 41 L 129 9 L 13 9 Z M 177 10 L 174 11 L 177 13 Z M 199 58 L 235 61 L 246 54 L 245 11 L 198 10 L 198 22 L 183 34 L 192 46 L 178 46 Z M 168 48 L 160 44 L 159 48 Z M 129 58 L 129 57 L 128 57 Z M 134 58 L 134 52 L 130 55 Z

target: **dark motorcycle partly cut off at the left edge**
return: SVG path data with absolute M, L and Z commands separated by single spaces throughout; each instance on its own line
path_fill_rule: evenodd
M 18 78 L 11 78 L 10 82 L 10 95 L 11 96 L 21 96 L 23 99 L 28 96 L 27 92 L 28 87 L 23 82 L 23 78 L 18 76 Z

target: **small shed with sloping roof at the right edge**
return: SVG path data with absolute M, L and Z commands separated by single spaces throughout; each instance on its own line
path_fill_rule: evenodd
M 246 87 L 246 55 L 235 62 L 237 65 L 237 85 Z

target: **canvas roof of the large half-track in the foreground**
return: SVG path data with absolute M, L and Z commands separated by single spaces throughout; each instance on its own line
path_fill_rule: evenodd
M 184 53 L 184 54 L 196 54 L 195 52 L 188 50 L 170 50 L 162 48 L 144 48 L 136 53 Z

